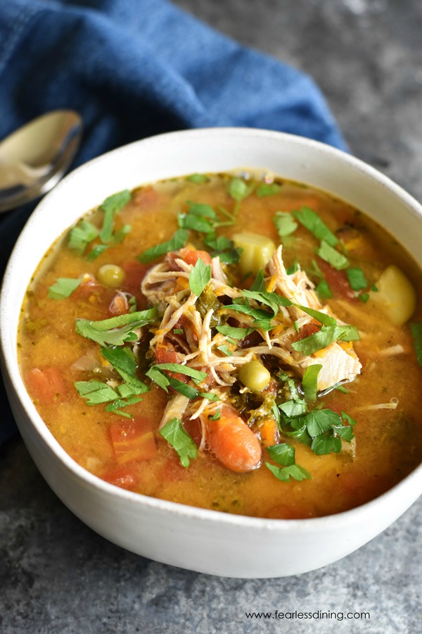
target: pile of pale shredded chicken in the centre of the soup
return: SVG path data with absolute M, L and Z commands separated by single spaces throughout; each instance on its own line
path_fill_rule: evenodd
M 204 313 L 199 298 L 189 287 L 188 278 L 193 265 L 181 258 L 182 251 L 184 249 L 168 254 L 164 262 L 153 266 L 143 279 L 141 290 L 151 304 L 158 305 L 161 314 L 160 323 L 152 331 L 151 351 L 155 353 L 157 346 L 171 343 L 173 349 L 177 350 L 179 363 L 200 371 L 205 370 L 209 375 L 207 385 L 201 385 L 200 389 L 212 392 L 227 390 L 238 380 L 241 366 L 252 359 L 265 359 L 269 356 L 275 357 L 281 367 L 291 368 L 299 377 L 304 375 L 309 366 L 319 364 L 321 370 L 318 375 L 318 390 L 350 382 L 360 373 L 362 366 L 351 342 L 334 342 L 310 355 L 301 354 L 294 349 L 295 341 L 309 336 L 309 328 L 311 334 L 320 328 L 319 323 L 299 306 L 326 313 L 333 318 L 335 316 L 328 306 L 321 305 L 314 285 L 304 271 L 299 269 L 288 275 L 283 264 L 281 246 L 269 261 L 269 275 L 264 278 L 264 283 L 268 292 L 279 294 L 297 305 L 278 306 L 274 314 L 274 311 L 269 312 L 264 303 L 248 299 L 252 309 L 268 311 L 271 325 L 269 330 L 260 328 L 255 316 L 231 309 L 232 303 L 239 303 L 236 299 L 243 300 L 242 290 L 229 285 L 218 257 L 212 259 L 212 278 L 209 282 L 215 297 L 215 306 Z M 253 344 L 241 344 L 240 340 L 218 332 L 216 323 L 233 324 L 236 328 L 253 328 L 255 340 Z M 210 402 L 203 399 L 199 408 L 206 407 L 210 407 Z M 197 406 L 192 409 L 186 397 L 177 395 L 167 406 L 161 426 L 182 414 L 189 414 L 191 418 L 200 417 Z

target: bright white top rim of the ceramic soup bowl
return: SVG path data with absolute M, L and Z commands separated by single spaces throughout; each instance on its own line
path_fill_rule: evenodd
M 399 481 L 396 485 L 388 489 L 378 497 L 371 499 L 365 504 L 361 504 L 347 511 L 341 511 L 340 513 L 331 514 L 328 516 L 321 516 L 316 518 L 300 518 L 300 519 L 278 519 L 278 518 L 260 518 L 238 514 L 228 514 L 222 511 L 215 511 L 211 509 L 203 509 L 196 506 L 188 506 L 187 504 L 181 504 L 179 502 L 171 502 L 165 499 L 159 499 L 150 497 L 141 493 L 132 492 L 122 489 L 105 480 L 102 480 L 98 476 L 90 473 L 84 467 L 80 466 L 71 456 L 65 452 L 65 449 L 61 447 L 60 443 L 53 436 L 46 423 L 39 416 L 37 409 L 35 409 L 34 403 L 30 399 L 29 394 L 23 383 L 23 378 L 19 372 L 19 366 L 14 361 L 13 354 L 11 352 L 11 342 L 8 335 L 8 287 L 13 283 L 13 277 L 15 275 L 15 267 L 18 265 L 18 258 L 20 257 L 21 244 L 24 244 L 25 238 L 30 234 L 33 225 L 39 223 L 39 218 L 42 218 L 44 209 L 48 209 L 53 203 L 54 199 L 60 191 L 68 187 L 73 181 L 75 181 L 82 172 L 89 170 L 92 167 L 101 166 L 101 163 L 115 159 L 117 155 L 132 153 L 136 151 L 139 146 L 146 147 L 155 144 L 167 144 L 178 143 L 182 137 L 185 139 L 198 137 L 199 139 L 209 137 L 210 135 L 221 135 L 224 137 L 260 137 L 260 138 L 272 138 L 279 139 L 280 142 L 287 142 L 290 144 L 296 144 L 304 148 L 312 148 L 319 151 L 321 154 L 331 154 L 346 163 L 348 168 L 357 170 L 359 173 L 369 176 L 379 185 L 388 189 L 401 204 L 407 206 L 409 211 L 414 213 L 418 218 L 422 220 L 422 206 L 406 192 L 402 187 L 397 185 L 388 176 L 376 170 L 372 166 L 369 166 L 364 161 L 357 159 L 347 152 L 331 147 L 327 144 L 315 141 L 314 139 L 308 139 L 307 137 L 299 137 L 297 135 L 291 135 L 286 132 L 276 132 L 273 130 L 261 130 L 259 128 L 200 128 L 193 130 L 179 130 L 177 132 L 166 132 L 164 134 L 155 135 L 146 139 L 139 139 L 132 143 L 126 144 L 122 147 L 112 149 L 101 156 L 97 156 L 91 159 L 82 166 L 79 166 L 71 173 L 69 173 L 62 181 L 56 185 L 56 187 L 49 192 L 49 194 L 42 199 L 37 205 L 36 209 L 32 212 L 29 220 L 25 224 L 23 231 L 18 237 L 10 259 L 6 266 L 4 273 L 4 280 L 0 290 L 0 352 L 1 361 L 4 365 L 4 370 L 8 374 L 8 378 L 11 381 L 13 390 L 18 396 L 21 406 L 25 410 L 27 416 L 27 423 L 34 428 L 41 439 L 44 441 L 49 451 L 56 456 L 56 459 L 65 467 L 65 469 L 76 476 L 78 480 L 86 483 L 89 487 L 94 487 L 100 490 L 103 494 L 112 497 L 117 497 L 122 502 L 126 501 L 130 504 L 136 504 L 138 506 L 147 506 L 155 511 L 162 511 L 173 516 L 184 516 L 185 518 L 195 519 L 196 521 L 212 522 L 214 524 L 222 524 L 224 526 L 243 526 L 244 528 L 252 529 L 265 529 L 267 531 L 279 531 L 284 533 L 286 531 L 295 530 L 298 533 L 315 533 L 323 532 L 328 528 L 340 528 L 341 526 L 359 523 L 362 515 L 375 514 L 376 509 L 380 504 L 388 504 L 390 499 L 398 498 L 401 496 L 402 491 L 409 487 L 409 483 L 416 483 L 420 480 L 422 492 L 422 464 L 417 466 L 411 473 L 405 478 Z M 241 168 L 241 166 L 239 166 Z M 177 170 L 175 170 L 177 172 Z M 176 174 L 179 175 L 179 174 Z M 282 175 L 281 175 L 282 177 Z M 141 179 L 140 179 L 141 180 Z M 147 182 L 140 182 L 139 185 L 146 185 Z M 113 193 L 113 192 L 110 192 Z M 79 218 L 79 216 L 78 216 Z M 75 218 L 76 220 L 76 218 Z M 14 307 L 16 310 L 16 307 Z M 20 306 L 19 306 L 20 310 Z M 16 333 L 14 333 L 15 335 Z M 27 424 L 25 422 L 25 425 Z M 415 498 L 416 499 L 416 498 Z M 408 505 L 409 506 L 409 505 Z

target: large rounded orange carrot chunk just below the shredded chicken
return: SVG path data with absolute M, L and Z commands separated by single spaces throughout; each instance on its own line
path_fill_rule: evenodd
M 256 435 L 229 406 L 222 406 L 217 421 L 207 420 L 207 444 L 230 471 L 252 471 L 260 464 L 262 450 Z

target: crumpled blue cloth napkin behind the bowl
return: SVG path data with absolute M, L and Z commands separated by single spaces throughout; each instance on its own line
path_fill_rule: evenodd
M 307 75 L 165 0 L 0 3 L 0 139 L 47 111 L 82 114 L 74 166 L 184 128 L 281 130 L 345 149 Z M 34 205 L 0 216 L 0 277 Z M 0 384 L 0 444 L 15 431 Z

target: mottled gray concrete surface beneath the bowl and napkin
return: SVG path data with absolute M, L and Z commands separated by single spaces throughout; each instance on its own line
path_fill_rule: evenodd
M 177 0 L 227 35 L 305 70 L 350 148 L 422 199 L 419 0 Z M 23 443 L 0 449 L 0 632 L 416 634 L 422 501 L 336 564 L 235 580 L 137 557 L 61 504 Z M 329 547 L 329 545 L 324 545 Z M 246 612 L 369 612 L 370 619 L 248 619 Z

